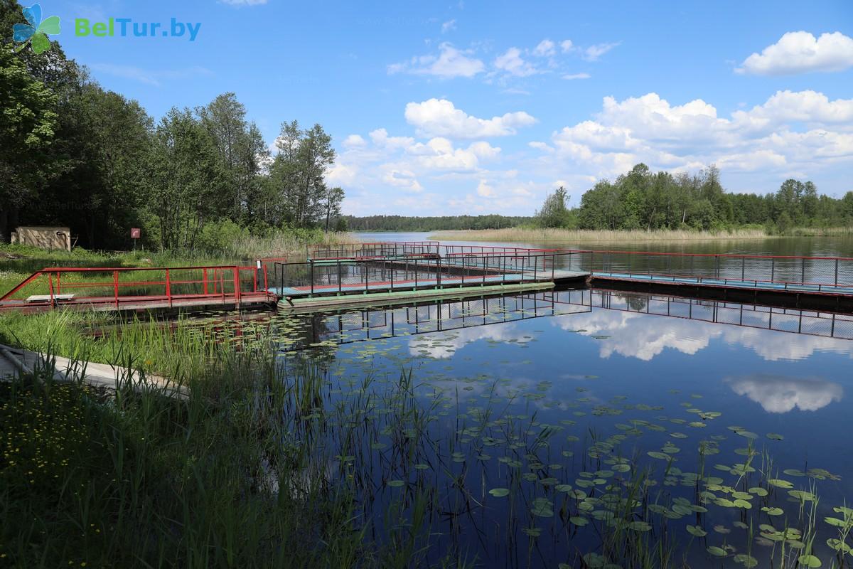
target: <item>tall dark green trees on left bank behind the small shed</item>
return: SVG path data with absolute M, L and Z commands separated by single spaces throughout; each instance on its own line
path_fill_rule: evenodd
M 0 28 L 23 21 L 17 2 L 0 0 Z M 20 225 L 67 225 L 96 248 L 126 248 L 141 227 L 168 249 L 237 229 L 340 227 L 344 190 L 327 182 L 335 153 L 321 125 L 285 122 L 270 150 L 234 93 L 155 122 L 59 44 L 14 48 L 3 34 L 0 242 Z

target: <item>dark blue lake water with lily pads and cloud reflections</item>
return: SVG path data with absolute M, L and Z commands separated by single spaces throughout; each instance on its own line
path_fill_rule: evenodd
M 780 241 L 748 252 L 850 254 Z M 322 441 L 318 472 L 431 565 L 828 567 L 849 548 L 851 316 L 584 289 L 269 326 L 287 365 L 322 369 L 293 427 Z

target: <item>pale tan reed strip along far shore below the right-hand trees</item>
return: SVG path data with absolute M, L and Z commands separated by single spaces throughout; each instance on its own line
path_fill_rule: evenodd
M 582 242 L 582 241 L 699 241 L 703 239 L 762 239 L 769 235 L 763 229 L 731 229 L 727 231 L 664 230 L 592 230 L 592 229 L 473 229 L 468 231 L 438 231 L 430 239 L 442 241 L 519 241 L 519 242 Z

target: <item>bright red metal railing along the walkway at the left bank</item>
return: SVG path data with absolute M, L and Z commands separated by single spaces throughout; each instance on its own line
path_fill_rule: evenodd
M 41 297 L 35 298 L 32 297 Z M 30 299 L 27 301 L 27 299 Z M 0 297 L 0 308 L 42 305 L 175 305 L 269 299 L 266 275 L 256 267 L 54 267 L 38 270 Z

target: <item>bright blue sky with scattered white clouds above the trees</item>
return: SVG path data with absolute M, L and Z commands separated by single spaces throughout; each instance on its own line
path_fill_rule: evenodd
M 26 2 L 25 2 L 26 4 Z M 234 91 L 270 145 L 319 122 L 353 214 L 531 214 L 636 162 L 733 191 L 853 189 L 853 3 L 59 3 L 57 38 L 155 118 Z M 76 37 L 109 17 L 193 42 Z

